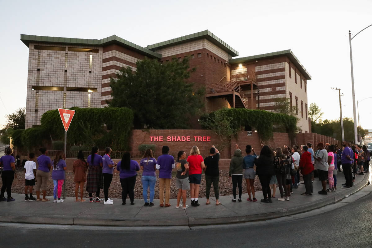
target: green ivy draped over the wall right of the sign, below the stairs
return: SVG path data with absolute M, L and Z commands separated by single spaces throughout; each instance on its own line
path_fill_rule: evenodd
M 273 113 L 266 110 L 243 108 L 224 108 L 205 114 L 200 118 L 202 128 L 218 129 L 219 126 L 215 124 L 217 119 L 220 121 L 221 116 L 228 120 L 231 130 L 242 130 L 246 126 L 254 128 L 254 130 L 257 130 L 260 139 L 264 142 L 273 138 L 274 131 L 286 132 L 291 139 L 294 138 L 297 131 L 297 118 L 294 116 Z

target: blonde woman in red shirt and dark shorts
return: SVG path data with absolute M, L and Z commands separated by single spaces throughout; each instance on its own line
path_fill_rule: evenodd
M 189 157 L 189 180 L 190 180 L 190 196 L 191 206 L 197 207 L 199 197 L 199 186 L 202 180 L 202 169 L 205 167 L 203 157 L 200 155 L 198 146 L 193 146 L 190 151 Z

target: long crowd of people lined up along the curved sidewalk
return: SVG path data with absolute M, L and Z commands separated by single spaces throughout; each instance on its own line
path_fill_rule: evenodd
M 49 172 L 52 171 L 52 180 L 54 184 L 53 196 L 54 203 L 62 203 L 61 199 L 62 185 L 65 180 L 65 154 L 63 151 L 57 151 L 53 160 L 47 156 L 48 150 L 40 148 L 41 155 L 37 158 L 38 167 L 36 168 L 35 154 L 30 153 L 28 161 L 24 165 L 25 171 L 25 201 L 47 202 L 47 187 Z M 247 201 L 256 202 L 257 198 L 254 189 L 254 179 L 258 175 L 262 186 L 264 203 L 272 203 L 276 198 L 276 185 L 279 186 L 279 201 L 289 200 L 293 189 L 298 188 L 300 184 L 300 173 L 302 174 L 305 185 L 303 196 L 310 196 L 313 193 L 312 183 L 314 178 L 318 177 L 321 181 L 322 190 L 318 194 L 328 194 L 337 190 L 337 172 L 345 176 L 345 184 L 341 187 L 349 189 L 353 187 L 353 181 L 356 175 L 363 175 L 369 171 L 370 154 L 365 145 L 353 145 L 344 141 L 342 146 L 318 143 L 316 149 L 312 148 L 311 143 L 307 145 L 291 148 L 283 146 L 272 150 L 267 145 L 262 145 L 260 155 L 258 156 L 251 145 L 246 145 L 246 156 L 243 157 L 238 145 L 230 161 L 229 178 L 232 182 L 232 202 L 241 202 L 243 176 L 246 180 L 248 192 Z M 6 155 L 0 158 L 0 166 L 3 166 L 1 174 L 2 187 L 0 201 L 14 201 L 11 195 L 11 187 L 14 178 L 17 178 L 15 167 L 15 158 L 11 155 L 12 149 L 5 149 Z M 131 205 L 134 205 L 134 188 L 138 176 L 138 171 L 142 170 L 142 187 L 144 206 L 154 206 L 155 183 L 158 170 L 159 199 L 160 207 L 170 207 L 170 186 L 172 179 L 172 170 L 176 168 L 176 187 L 177 203 L 176 208 L 186 209 L 187 190 L 190 190 L 191 206 L 200 205 L 199 186 L 201 184 L 202 172 L 205 173 L 206 184 L 206 204 L 209 200 L 211 186 L 214 187 L 216 205 L 219 202 L 219 159 L 218 149 L 212 145 L 209 150 L 209 156 L 203 158 L 200 155 L 199 148 L 193 146 L 189 155 L 185 151 L 179 151 L 177 158 L 169 155 L 169 147 L 163 146 L 162 155 L 154 158 L 153 151 L 147 149 L 143 158 L 138 164 L 131 159 L 129 152 L 125 152 L 121 161 L 117 164 L 111 159 L 112 149 L 105 148 L 105 155 L 98 154 L 98 148 L 94 146 L 91 154 L 84 159 L 83 151 L 79 151 L 77 159 L 73 163 L 75 197 L 76 202 L 84 202 L 84 184 L 86 182 L 86 191 L 89 193 L 89 202 L 104 202 L 104 204 L 113 204 L 109 198 L 110 184 L 113 178 L 113 172 L 119 173 L 122 187 L 122 205 L 126 204 L 127 196 Z M 327 189 L 328 181 L 328 189 Z M 36 198 L 33 197 L 33 186 L 36 184 Z M 80 188 L 80 199 L 78 197 Z M 238 188 L 238 198 L 237 190 Z M 100 197 L 100 190 L 103 189 L 104 198 Z M 150 195 L 148 196 L 148 190 Z M 164 199 L 165 190 L 165 199 Z M 4 197 L 5 191 L 7 198 Z M 93 196 L 95 194 L 95 196 Z M 181 203 L 182 199 L 182 203 Z

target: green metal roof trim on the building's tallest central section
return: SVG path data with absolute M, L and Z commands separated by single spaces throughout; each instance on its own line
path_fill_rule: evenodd
M 231 46 L 226 44 L 226 42 L 222 41 L 220 38 L 215 36 L 208 29 L 206 29 L 204 31 L 201 31 L 201 32 L 192 33 L 190 35 L 185 35 L 185 36 L 182 36 L 182 37 L 170 39 L 168 41 L 163 41 L 163 42 L 155 43 L 153 45 L 148 45 L 147 49 L 152 50 L 152 49 L 156 49 L 156 48 L 162 48 L 162 47 L 165 47 L 165 46 L 176 45 L 176 44 L 180 44 L 180 43 L 183 43 L 183 42 L 186 42 L 186 41 L 200 39 L 200 38 L 208 39 L 209 41 L 211 41 L 212 43 L 217 45 L 219 48 L 222 48 L 224 51 L 228 52 L 228 54 L 231 54 L 232 57 L 239 56 L 238 51 L 236 51 Z

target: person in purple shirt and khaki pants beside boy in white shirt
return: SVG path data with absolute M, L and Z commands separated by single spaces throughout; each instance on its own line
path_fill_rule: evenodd
M 52 168 L 52 162 L 47 156 L 48 150 L 45 147 L 39 149 L 41 155 L 38 157 L 38 170 L 36 171 L 36 201 L 49 201 L 47 198 L 47 183 L 49 180 L 49 171 Z M 43 199 L 40 199 L 40 189 L 43 192 Z

